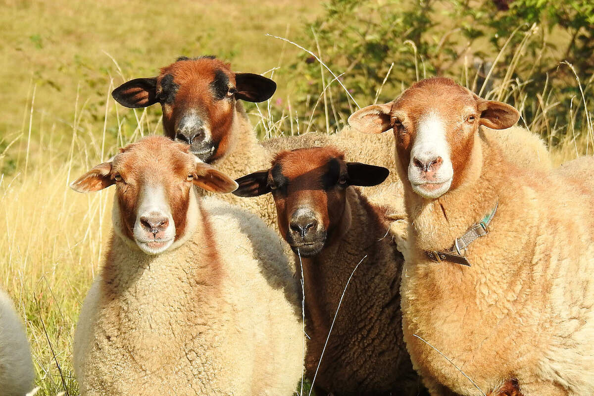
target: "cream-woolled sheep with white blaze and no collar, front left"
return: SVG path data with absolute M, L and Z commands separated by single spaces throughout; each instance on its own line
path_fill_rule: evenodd
M 71 187 L 112 184 L 113 235 L 74 334 L 81 395 L 293 395 L 302 314 L 279 238 L 194 187 L 236 183 L 147 137 Z

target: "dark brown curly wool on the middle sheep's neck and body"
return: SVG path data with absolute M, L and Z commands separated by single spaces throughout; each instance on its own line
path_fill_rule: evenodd
M 351 226 L 345 236 L 314 258 L 302 258 L 308 378 L 315 376 L 317 389 L 342 396 L 422 394 L 402 336 L 404 260 L 387 235 L 390 219 L 358 189 L 348 188 L 346 199 Z

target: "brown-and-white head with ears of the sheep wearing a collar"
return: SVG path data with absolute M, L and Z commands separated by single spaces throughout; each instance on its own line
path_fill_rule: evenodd
M 462 183 L 480 125 L 505 129 L 518 119 L 508 104 L 481 99 L 447 78 L 429 78 L 393 102 L 358 110 L 349 124 L 371 134 L 393 129 L 401 174 L 413 192 L 434 199 Z

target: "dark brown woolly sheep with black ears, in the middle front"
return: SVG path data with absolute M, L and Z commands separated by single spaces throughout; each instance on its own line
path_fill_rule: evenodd
M 271 193 L 280 233 L 301 262 L 305 368 L 318 396 L 419 394 L 400 326 L 404 259 L 387 236 L 385 208 L 354 187 L 388 173 L 327 146 L 282 151 L 269 169 L 236 180 L 240 197 Z

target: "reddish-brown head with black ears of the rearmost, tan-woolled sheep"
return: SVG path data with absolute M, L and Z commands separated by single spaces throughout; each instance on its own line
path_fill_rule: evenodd
M 160 103 L 163 129 L 172 140 L 189 145 L 198 159 L 211 163 L 231 150 L 236 137 L 236 100 L 263 102 L 276 84 L 257 74 L 235 73 L 214 56 L 178 58 L 158 77 L 136 78 L 113 90 L 126 107 Z

